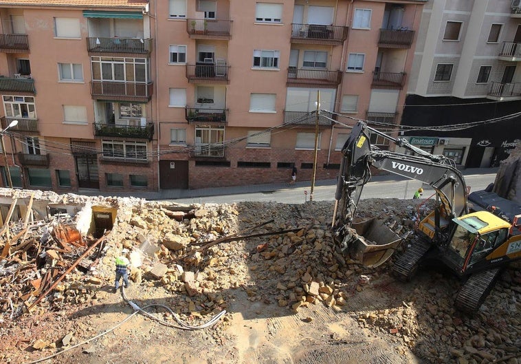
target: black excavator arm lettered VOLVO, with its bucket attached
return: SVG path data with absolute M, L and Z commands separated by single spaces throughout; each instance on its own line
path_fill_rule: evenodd
M 370 144 L 369 132 L 377 133 L 417 156 L 378 149 Z M 437 229 L 440 217 L 450 220 L 468 213 L 465 180 L 453 160 L 430 154 L 403 138 L 392 138 L 358 122 L 342 148 L 332 228 L 341 250 L 366 266 L 384 263 L 400 242 L 382 221 L 353 224 L 362 189 L 371 178 L 371 167 L 432 186 L 436 191 Z

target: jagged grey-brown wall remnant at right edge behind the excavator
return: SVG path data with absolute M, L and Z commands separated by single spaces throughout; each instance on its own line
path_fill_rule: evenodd
M 521 204 L 521 142 L 512 149 L 509 158 L 502 160 L 492 191 Z

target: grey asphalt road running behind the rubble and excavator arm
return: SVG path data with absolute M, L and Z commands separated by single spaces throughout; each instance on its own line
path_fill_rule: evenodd
M 465 175 L 465 182 L 472 191 L 485 189 L 490 183 L 496 179 L 496 173 L 483 173 Z M 423 185 L 417 180 L 389 180 L 387 178 L 379 178 L 375 176 L 372 182 L 364 186 L 362 191 L 362 199 L 364 198 L 400 198 L 410 199 L 414 192 L 423 186 L 423 198 L 430 197 L 434 190 Z M 335 184 L 315 186 L 313 191 L 313 201 L 333 201 L 335 200 Z M 284 204 L 302 204 L 309 200 L 311 193 L 311 184 L 303 186 L 287 186 L 282 189 L 274 189 L 272 191 L 261 191 L 254 193 L 239 193 L 234 195 L 218 195 L 206 197 L 190 197 L 184 199 L 173 200 L 175 202 L 191 204 L 191 203 L 216 203 L 231 204 L 234 202 L 257 201 L 257 202 L 280 202 Z

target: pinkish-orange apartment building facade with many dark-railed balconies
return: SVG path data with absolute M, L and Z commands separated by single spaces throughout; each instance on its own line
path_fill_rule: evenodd
M 356 118 L 395 132 L 423 3 L 0 0 L 3 185 L 335 178 Z

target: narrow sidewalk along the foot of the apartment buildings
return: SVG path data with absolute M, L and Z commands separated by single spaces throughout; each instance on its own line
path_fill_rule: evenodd
M 498 168 L 469 168 L 463 169 L 461 173 L 465 175 L 486 175 L 496 174 Z M 374 175 L 369 183 L 373 182 L 388 182 L 388 181 L 401 181 L 408 180 L 408 178 L 402 177 L 401 175 L 395 175 L 388 173 L 385 175 Z M 115 196 L 115 197 L 138 197 L 146 200 L 177 200 L 194 197 L 208 197 L 208 196 L 221 196 L 221 195 L 236 195 L 239 193 L 258 193 L 258 192 L 271 192 L 283 189 L 294 189 L 296 187 L 308 187 L 311 181 L 299 181 L 293 184 L 291 187 L 287 186 L 285 182 L 278 182 L 272 184 L 250 184 L 247 186 L 232 186 L 232 187 L 214 187 L 208 189 L 168 189 L 157 192 L 143 191 L 143 192 L 132 192 L 132 193 L 113 193 L 113 192 L 100 192 L 93 190 L 84 190 L 78 192 L 80 195 L 102 195 L 102 196 Z M 315 181 L 315 186 L 333 186 L 336 184 L 336 180 L 318 180 Z

